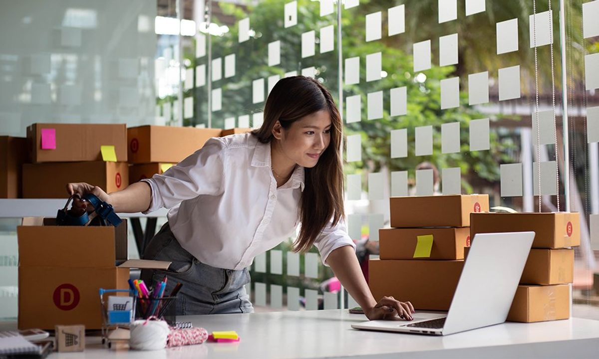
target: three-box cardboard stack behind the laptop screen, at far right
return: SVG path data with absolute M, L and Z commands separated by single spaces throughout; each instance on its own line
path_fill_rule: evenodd
M 507 320 L 524 323 L 570 318 L 574 250 L 580 245 L 578 213 L 474 213 L 470 236 L 535 232 L 533 248 Z

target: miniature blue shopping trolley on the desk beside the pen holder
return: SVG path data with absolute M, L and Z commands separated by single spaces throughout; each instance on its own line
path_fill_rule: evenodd
M 127 293 L 129 296 L 107 296 L 113 293 Z M 110 331 L 118 328 L 129 328 L 135 316 L 135 297 L 137 291 L 128 289 L 103 289 L 100 288 L 100 309 L 102 313 L 102 344 L 110 340 L 125 340 L 125 338 L 111 338 Z M 105 298 L 108 297 L 108 300 Z M 129 339 L 129 338 L 126 338 Z

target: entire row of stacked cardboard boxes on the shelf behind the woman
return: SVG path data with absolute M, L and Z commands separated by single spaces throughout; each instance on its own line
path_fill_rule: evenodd
M 32 124 L 27 138 L 0 136 L 0 198 L 66 198 L 69 182 L 123 190 L 164 173 L 211 137 L 251 130 Z

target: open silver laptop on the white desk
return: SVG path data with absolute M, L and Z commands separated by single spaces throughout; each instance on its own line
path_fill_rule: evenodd
M 412 321 L 373 320 L 352 328 L 447 335 L 503 323 L 533 239 L 534 232 L 477 234 L 446 314 L 416 312 Z

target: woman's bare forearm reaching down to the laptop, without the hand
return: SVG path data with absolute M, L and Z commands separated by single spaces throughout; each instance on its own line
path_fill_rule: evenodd
M 337 248 L 326 258 L 337 279 L 347 289 L 347 292 L 358 302 L 362 309 L 370 309 L 376 305 L 376 300 L 362 274 L 362 269 L 356 258 L 356 252 L 349 245 Z

